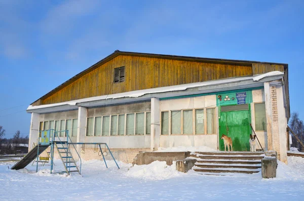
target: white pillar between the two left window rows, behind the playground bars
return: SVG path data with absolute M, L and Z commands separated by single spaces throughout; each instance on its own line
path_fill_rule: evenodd
M 78 127 L 77 127 L 77 142 L 85 142 L 87 131 L 87 116 L 88 109 L 86 107 L 78 107 Z M 80 154 L 82 145 L 77 145 L 77 151 Z

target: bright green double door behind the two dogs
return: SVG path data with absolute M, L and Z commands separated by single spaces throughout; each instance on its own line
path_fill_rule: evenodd
M 222 106 L 219 119 L 219 150 L 224 150 L 221 135 L 224 134 L 233 141 L 234 151 L 249 151 L 250 105 Z

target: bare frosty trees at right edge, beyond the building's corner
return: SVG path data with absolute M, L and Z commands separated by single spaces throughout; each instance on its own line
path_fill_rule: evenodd
M 289 122 L 289 127 L 295 135 L 298 136 L 301 142 L 304 142 L 304 123 L 299 119 L 299 114 L 293 112 L 291 114 L 291 119 Z M 297 139 L 292 135 L 292 147 L 296 147 L 299 150 L 304 150 L 304 147 L 297 141 Z

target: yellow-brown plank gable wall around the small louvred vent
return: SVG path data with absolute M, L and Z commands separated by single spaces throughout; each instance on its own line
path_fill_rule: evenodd
M 121 66 L 125 66 L 125 82 L 112 84 L 114 68 Z M 45 98 L 42 104 L 246 75 L 252 75 L 251 63 L 237 65 L 119 55 Z

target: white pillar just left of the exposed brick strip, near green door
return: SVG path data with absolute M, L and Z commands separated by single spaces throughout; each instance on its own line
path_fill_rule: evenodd
M 264 96 L 265 96 L 265 113 L 267 122 L 267 150 L 274 150 L 273 147 L 273 134 L 272 134 L 272 101 L 270 84 L 264 83 Z

